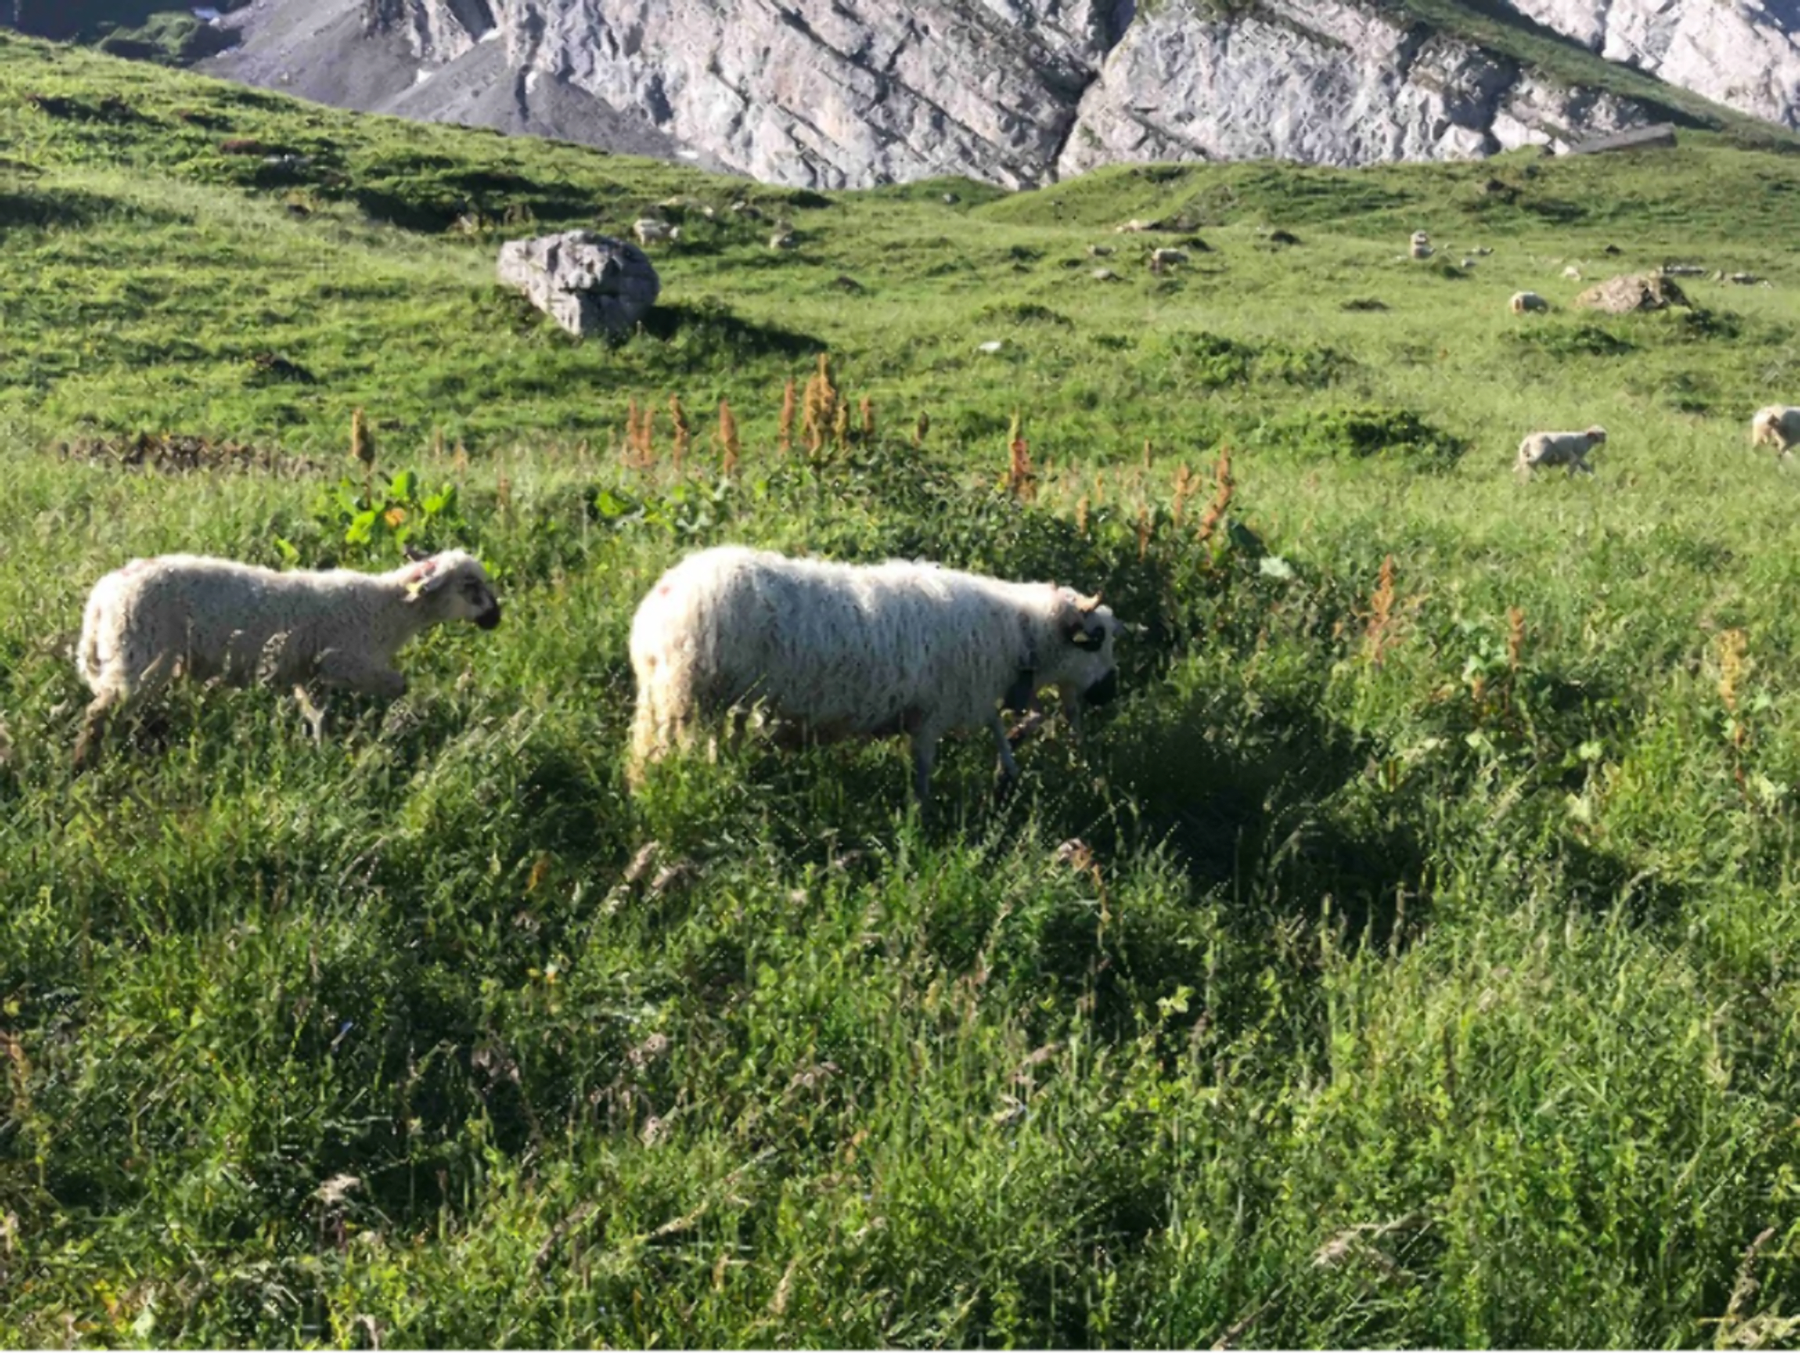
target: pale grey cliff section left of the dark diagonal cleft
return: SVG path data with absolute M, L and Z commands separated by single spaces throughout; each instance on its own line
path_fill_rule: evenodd
M 488 20 L 509 61 L 756 178 L 1035 184 L 1111 43 L 1094 0 L 405 0 L 425 63 Z M 470 16 L 466 11 L 481 11 Z M 473 18 L 473 22 L 470 22 Z

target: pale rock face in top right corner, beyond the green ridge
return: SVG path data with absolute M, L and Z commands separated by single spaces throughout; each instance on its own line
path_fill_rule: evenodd
M 1670 85 L 1800 126 L 1800 0 L 1505 0 Z

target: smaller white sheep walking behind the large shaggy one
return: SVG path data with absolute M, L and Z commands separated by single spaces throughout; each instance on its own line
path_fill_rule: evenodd
M 76 763 L 110 715 L 175 677 L 293 682 L 317 736 L 306 682 L 398 697 L 407 679 L 394 654 L 421 630 L 459 619 L 484 630 L 500 623 L 488 574 L 464 551 L 385 574 L 277 573 L 200 555 L 131 560 L 88 594 L 76 664 L 94 700 Z

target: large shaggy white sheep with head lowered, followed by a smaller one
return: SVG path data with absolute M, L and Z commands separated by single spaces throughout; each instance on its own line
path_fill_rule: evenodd
M 637 715 L 630 780 L 695 720 L 765 702 L 819 740 L 913 740 L 913 787 L 931 805 L 938 740 L 986 727 L 1003 785 L 1019 774 L 1001 708 L 1055 686 L 1062 708 L 1111 700 L 1120 632 L 1100 598 L 1053 583 L 1008 583 L 932 564 L 794 560 L 722 546 L 670 569 L 632 618 Z

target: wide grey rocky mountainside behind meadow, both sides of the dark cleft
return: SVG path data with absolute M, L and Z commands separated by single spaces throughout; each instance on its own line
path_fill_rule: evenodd
M 220 74 L 808 187 L 1460 158 L 1652 121 L 1370 0 L 256 0 L 232 22 Z

